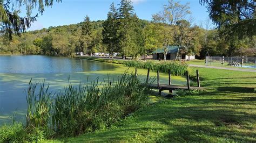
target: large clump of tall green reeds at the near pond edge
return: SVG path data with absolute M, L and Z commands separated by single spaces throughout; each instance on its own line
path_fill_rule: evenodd
M 71 83 L 53 97 L 49 85 L 29 83 L 27 126 L 42 126 L 59 137 L 104 130 L 147 104 L 150 89 L 138 77 L 123 74 L 116 81 L 90 85 Z M 39 92 L 37 94 L 37 86 Z

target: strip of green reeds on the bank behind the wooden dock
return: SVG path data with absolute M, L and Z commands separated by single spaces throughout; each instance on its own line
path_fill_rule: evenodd
M 172 75 L 184 75 L 187 70 L 187 64 L 178 61 L 139 61 L 139 60 L 129 60 L 125 61 L 124 65 L 128 67 L 137 67 L 148 69 L 153 71 L 159 70 L 162 73 L 168 73 L 171 70 Z

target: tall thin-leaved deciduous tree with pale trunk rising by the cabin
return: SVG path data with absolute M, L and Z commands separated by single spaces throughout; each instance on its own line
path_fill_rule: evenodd
M 174 2 L 170 0 L 167 5 L 164 5 L 164 9 L 157 14 L 152 16 L 152 19 L 156 23 L 162 23 L 164 28 L 161 33 L 163 33 L 163 46 L 164 46 L 164 60 L 166 60 L 168 46 L 173 44 L 174 33 L 176 28 L 174 24 L 178 20 L 185 19 L 188 14 L 190 14 L 189 3 L 185 5 L 179 2 Z

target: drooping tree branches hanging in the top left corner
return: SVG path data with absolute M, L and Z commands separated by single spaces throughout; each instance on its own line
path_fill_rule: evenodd
M 61 2 L 62 0 L 56 0 Z M 38 8 L 41 15 L 44 12 L 44 6 L 52 6 L 53 0 L 0 0 L 0 24 L 1 31 L 8 35 L 9 39 L 12 39 L 12 34 L 21 35 L 27 28 L 31 26 L 31 22 L 34 22 L 38 17 L 32 15 L 32 9 Z M 19 17 L 21 13 L 21 6 L 26 7 L 26 17 Z

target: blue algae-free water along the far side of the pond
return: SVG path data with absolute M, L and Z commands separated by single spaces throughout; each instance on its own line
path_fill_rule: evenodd
M 0 56 L 0 73 L 74 73 L 116 68 L 115 65 L 57 56 Z

